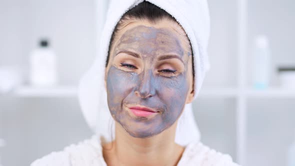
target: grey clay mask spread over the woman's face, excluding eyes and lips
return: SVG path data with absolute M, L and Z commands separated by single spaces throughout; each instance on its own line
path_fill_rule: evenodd
M 167 28 L 138 25 L 125 31 L 115 42 L 106 75 L 107 102 L 112 117 L 134 137 L 150 137 L 168 128 L 180 116 L 185 105 L 189 82 L 188 58 L 184 56 L 189 56 L 189 52 L 184 51 L 174 33 Z M 122 50 L 139 54 L 137 58 L 142 61 L 140 71 L 133 71 L 135 69 L 130 65 L 113 63 Z M 167 75 L 166 70 L 157 71 L 155 64 L 158 57 L 171 52 L 183 61 L 184 69 L 171 75 Z M 127 105 L 137 104 L 158 112 L 150 117 L 133 116 Z

